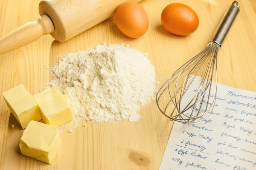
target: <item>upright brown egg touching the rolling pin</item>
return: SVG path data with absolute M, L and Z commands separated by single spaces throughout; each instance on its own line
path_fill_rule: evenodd
M 116 26 L 131 38 L 141 37 L 148 30 L 148 16 L 138 3 L 126 2 L 116 9 Z

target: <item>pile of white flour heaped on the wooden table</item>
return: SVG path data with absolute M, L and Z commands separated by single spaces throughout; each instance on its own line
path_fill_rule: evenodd
M 155 93 L 154 66 L 148 53 L 122 45 L 97 45 L 95 49 L 65 54 L 52 73 L 77 116 L 87 121 L 137 121 L 138 111 Z

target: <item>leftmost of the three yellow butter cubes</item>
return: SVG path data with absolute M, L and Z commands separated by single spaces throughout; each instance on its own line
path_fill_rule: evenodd
M 20 126 L 24 129 L 31 120 L 41 120 L 38 106 L 23 85 L 4 92 L 3 98 Z

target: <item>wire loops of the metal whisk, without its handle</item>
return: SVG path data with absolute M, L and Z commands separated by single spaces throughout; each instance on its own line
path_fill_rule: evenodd
M 216 61 L 217 61 L 217 54 L 218 49 L 220 47 L 212 42 L 210 43 L 207 48 L 190 59 L 188 62 L 183 64 L 180 68 L 175 71 L 172 76 L 167 80 L 164 85 L 160 88 L 156 95 L 157 107 L 160 109 L 161 113 L 165 116 L 169 117 L 170 119 L 176 120 L 178 122 L 197 122 L 201 121 L 202 119 L 206 119 L 207 117 L 201 118 L 209 111 L 212 111 L 213 105 L 215 105 L 215 100 L 212 101 L 211 105 L 209 105 L 210 99 L 210 91 L 208 92 L 208 98 L 206 102 L 206 108 L 204 109 L 204 113 L 201 113 L 202 106 L 204 104 L 205 96 L 207 96 L 207 89 L 212 89 L 212 79 L 214 77 L 214 70 L 216 68 Z M 192 99 L 186 104 L 182 104 L 182 99 L 186 95 L 187 91 L 189 90 L 190 86 L 194 82 L 196 76 L 199 75 L 200 71 L 205 68 L 206 71 L 204 73 L 203 79 L 201 81 L 201 85 L 198 88 L 196 94 L 192 97 Z M 185 72 L 188 71 L 188 74 Z M 217 73 L 217 72 L 215 72 Z M 179 80 L 185 74 L 185 79 L 182 85 L 179 86 Z M 216 74 L 215 74 L 216 75 Z M 174 85 L 174 94 L 172 94 L 172 87 Z M 170 100 L 167 103 L 166 107 L 162 109 L 160 107 L 160 98 L 163 96 L 165 91 L 168 89 Z M 178 96 L 177 96 L 178 95 Z M 216 93 L 213 95 L 215 97 Z M 199 106 L 199 111 L 195 113 L 196 104 L 201 101 Z M 173 104 L 175 108 L 171 112 L 170 115 L 167 115 L 167 109 L 169 108 L 170 104 Z M 185 107 L 184 107 L 185 106 Z M 191 109 L 191 113 L 186 113 Z M 201 120 L 198 120 L 201 119 Z

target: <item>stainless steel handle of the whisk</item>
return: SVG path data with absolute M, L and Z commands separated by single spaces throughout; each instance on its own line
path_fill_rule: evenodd
M 220 24 L 218 25 L 209 42 L 215 42 L 221 47 L 221 43 L 225 39 L 227 32 L 229 31 L 237 14 L 239 13 L 239 10 L 239 3 L 237 1 L 234 1 L 230 6 L 229 10 L 227 11 L 227 13 L 223 16 Z

